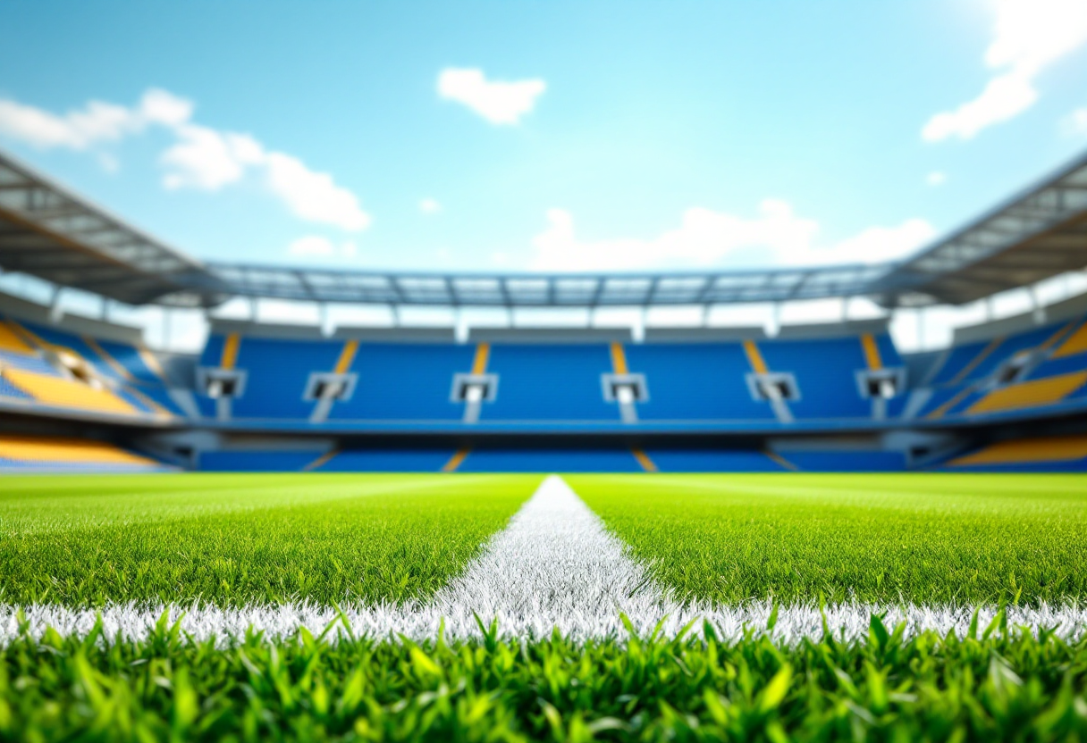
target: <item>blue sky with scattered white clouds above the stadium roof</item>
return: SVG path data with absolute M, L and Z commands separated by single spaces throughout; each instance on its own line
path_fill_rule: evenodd
M 9 2 L 0 24 L 0 147 L 203 259 L 878 261 L 1087 149 L 1085 0 Z

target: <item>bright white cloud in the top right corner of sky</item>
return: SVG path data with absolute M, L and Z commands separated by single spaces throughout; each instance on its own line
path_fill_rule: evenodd
M 1035 78 L 1053 61 L 1087 42 L 1083 0 L 997 0 L 994 39 L 985 63 L 998 72 L 982 93 L 934 115 L 922 129 L 927 141 L 971 139 L 1038 100 Z

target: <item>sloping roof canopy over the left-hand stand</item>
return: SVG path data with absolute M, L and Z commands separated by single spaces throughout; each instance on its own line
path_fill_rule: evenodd
M 227 298 L 198 261 L 3 153 L 0 266 L 127 304 L 199 306 Z

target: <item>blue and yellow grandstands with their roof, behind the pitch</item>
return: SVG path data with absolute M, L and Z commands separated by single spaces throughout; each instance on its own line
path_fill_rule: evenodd
M 104 236 L 104 237 L 103 237 Z M 896 265 L 389 276 L 205 265 L 0 156 L 0 471 L 1087 469 L 1087 295 L 902 353 L 888 317 L 762 327 L 318 327 L 230 298 L 392 306 L 962 304 L 1087 266 L 1087 159 Z M 58 312 L 66 289 L 203 307 L 198 354 Z

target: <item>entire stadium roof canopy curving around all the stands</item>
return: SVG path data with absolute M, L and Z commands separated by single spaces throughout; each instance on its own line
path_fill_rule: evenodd
M 397 274 L 202 264 L 0 153 L 0 266 L 128 304 L 232 297 L 595 307 L 872 297 L 962 304 L 1087 266 L 1087 156 L 900 264 L 699 274 Z

